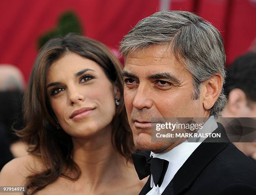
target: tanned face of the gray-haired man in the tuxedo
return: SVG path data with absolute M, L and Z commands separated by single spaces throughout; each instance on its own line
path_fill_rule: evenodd
M 162 152 L 172 147 L 164 142 L 151 142 L 151 117 L 205 116 L 202 100 L 193 100 L 192 75 L 168 46 L 151 46 L 129 53 L 123 79 L 128 121 L 139 149 Z

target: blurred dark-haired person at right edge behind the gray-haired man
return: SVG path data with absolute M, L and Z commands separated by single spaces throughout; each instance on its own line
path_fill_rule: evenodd
M 246 53 L 228 67 L 224 90 L 228 103 L 223 117 L 256 118 L 256 53 Z M 236 142 L 234 145 L 256 159 L 256 143 Z

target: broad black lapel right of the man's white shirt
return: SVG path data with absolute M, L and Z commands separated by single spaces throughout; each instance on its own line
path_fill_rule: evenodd
M 228 146 L 228 137 L 220 123 L 218 123 L 218 128 L 214 133 L 218 132 L 221 133 L 221 142 L 213 142 L 213 140 L 211 140 L 212 138 L 205 139 L 174 175 L 172 180 L 174 195 L 178 195 L 189 189 L 190 185 L 197 179 L 202 170 Z M 169 188 L 170 186 L 168 185 L 166 190 L 168 191 Z

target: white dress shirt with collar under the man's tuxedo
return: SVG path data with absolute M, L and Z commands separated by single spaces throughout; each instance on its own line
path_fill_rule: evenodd
M 207 132 L 211 133 L 215 129 L 218 128 L 218 124 L 215 121 L 215 118 L 213 116 L 209 117 L 205 124 L 202 126 L 202 129 L 200 129 L 197 133 L 200 132 Z M 189 156 L 197 149 L 197 147 L 202 143 L 202 141 L 206 138 L 200 138 L 200 142 L 188 142 L 187 140 L 183 142 L 182 144 L 179 144 L 178 146 L 174 147 L 172 150 L 160 153 L 160 154 L 154 154 L 151 152 L 151 157 L 157 157 L 164 160 L 169 161 L 168 168 L 166 170 L 164 180 L 161 184 L 161 187 L 158 185 L 154 185 L 154 178 L 153 175 L 151 175 L 151 182 L 150 187 L 153 187 L 146 195 L 161 195 L 167 185 L 171 182 L 174 175 L 178 172 L 180 167 L 184 164 L 184 162 L 189 158 Z M 198 141 L 198 140 L 197 140 Z

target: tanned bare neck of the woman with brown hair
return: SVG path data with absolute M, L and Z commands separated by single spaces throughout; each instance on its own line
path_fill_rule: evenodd
M 90 138 L 73 138 L 72 141 L 73 160 L 81 170 L 79 180 L 92 190 L 103 183 L 108 185 L 125 172 L 125 159 L 113 147 L 110 127 Z

